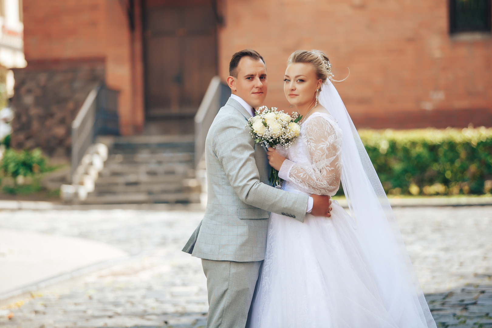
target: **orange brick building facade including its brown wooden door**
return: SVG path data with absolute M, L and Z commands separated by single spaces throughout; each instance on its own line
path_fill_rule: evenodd
M 358 127 L 492 126 L 490 28 L 450 33 L 456 1 L 24 0 L 26 70 L 99 60 L 103 82 L 120 91 L 122 134 L 146 123 L 156 124 L 150 133 L 190 133 L 210 78 L 225 80 L 234 52 L 265 57 L 266 104 L 287 108 L 287 57 L 322 49 L 336 78 L 350 69 L 337 88 Z M 481 2 L 490 21 L 490 0 Z M 14 104 L 30 99 L 22 88 Z

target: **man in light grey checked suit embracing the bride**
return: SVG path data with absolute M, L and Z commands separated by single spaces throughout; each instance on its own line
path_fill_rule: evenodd
M 202 259 L 207 277 L 207 328 L 244 328 L 265 258 L 269 212 L 304 222 L 307 212 L 330 216 L 330 197 L 302 195 L 269 185 L 262 144 L 246 129 L 267 95 L 265 60 L 254 50 L 232 56 L 231 97 L 205 141 L 208 201 L 205 216 L 183 248 Z

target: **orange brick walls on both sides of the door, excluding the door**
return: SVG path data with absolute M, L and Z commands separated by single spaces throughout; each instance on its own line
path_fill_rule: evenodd
M 28 65 L 103 58 L 106 83 L 121 91 L 123 134 L 138 133 L 144 124 L 139 2 L 131 33 L 125 1 L 24 0 Z M 337 88 L 358 126 L 492 126 L 492 39 L 452 39 L 447 1 L 217 2 L 225 22 L 219 29 L 220 76 L 227 76 L 234 52 L 258 50 L 268 66 L 268 105 L 287 108 L 282 88 L 287 57 L 315 48 L 328 53 L 336 78 L 350 68 Z M 462 119 L 469 116 L 473 119 Z

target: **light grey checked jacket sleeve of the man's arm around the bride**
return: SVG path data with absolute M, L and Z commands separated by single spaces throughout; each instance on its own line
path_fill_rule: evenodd
M 213 148 L 220 165 L 241 201 L 277 214 L 289 213 L 304 222 L 307 195 L 291 193 L 260 182 L 254 157 L 254 140 L 242 118 L 219 124 Z

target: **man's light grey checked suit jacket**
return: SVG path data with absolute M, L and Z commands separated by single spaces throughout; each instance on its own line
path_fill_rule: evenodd
M 205 141 L 208 202 L 205 216 L 183 251 L 216 261 L 265 258 L 269 212 L 304 222 L 307 195 L 271 187 L 266 149 L 246 128 L 251 116 L 229 98 Z

